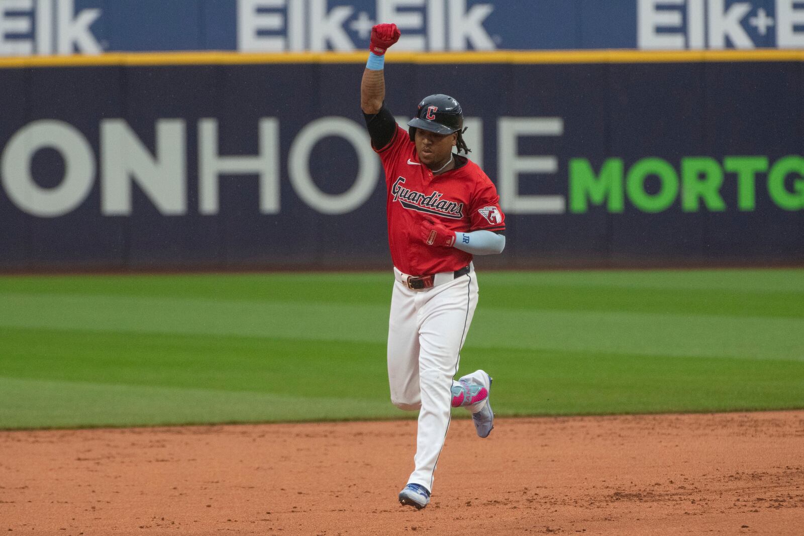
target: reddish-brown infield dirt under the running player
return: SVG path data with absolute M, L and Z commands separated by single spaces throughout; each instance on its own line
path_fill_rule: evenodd
M 4 534 L 804 534 L 804 411 L 0 432 Z

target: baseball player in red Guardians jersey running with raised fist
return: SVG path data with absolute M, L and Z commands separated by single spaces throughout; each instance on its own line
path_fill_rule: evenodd
M 388 191 L 388 243 L 396 276 L 388 326 L 391 400 L 400 409 L 420 410 L 415 469 L 399 501 L 422 509 L 430 501 L 450 408 L 466 407 L 480 437 L 494 428 L 490 376 L 476 370 L 457 382 L 453 378 L 478 304 L 472 258 L 503 252 L 505 217 L 494 184 L 461 156 L 470 149 L 461 135 L 457 100 L 425 97 L 408 131 L 384 106 L 384 54 L 399 37 L 396 24 L 372 29 L 360 105 Z

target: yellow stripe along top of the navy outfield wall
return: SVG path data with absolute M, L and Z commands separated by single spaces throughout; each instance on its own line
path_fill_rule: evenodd
M 109 52 L 102 55 L 0 57 L 0 68 L 245 65 L 260 63 L 365 63 L 366 51 L 246 53 Z M 804 50 L 762 48 L 720 51 L 488 51 L 391 52 L 388 63 L 700 63 L 700 62 L 804 62 Z

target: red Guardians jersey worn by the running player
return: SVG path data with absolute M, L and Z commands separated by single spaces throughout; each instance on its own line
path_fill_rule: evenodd
M 412 276 L 453 272 L 472 260 L 460 249 L 427 245 L 420 234 L 425 217 L 456 232 L 505 230 L 494 183 L 468 158 L 456 156 L 453 170 L 433 175 L 419 162 L 416 144 L 399 125 L 388 145 L 375 151 L 385 169 L 388 245 L 400 272 Z

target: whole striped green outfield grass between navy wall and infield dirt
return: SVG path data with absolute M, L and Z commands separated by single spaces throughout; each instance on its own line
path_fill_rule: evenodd
M 460 374 L 494 376 L 498 415 L 804 407 L 804 269 L 479 281 Z M 388 400 L 391 285 L 0 277 L 0 428 L 414 416 Z

